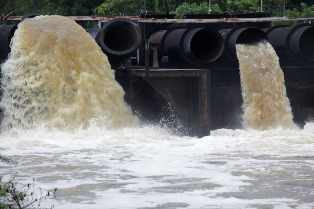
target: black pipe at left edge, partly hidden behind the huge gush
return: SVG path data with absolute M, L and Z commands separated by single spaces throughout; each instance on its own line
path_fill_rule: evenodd
M 11 51 L 10 43 L 14 35 L 16 25 L 0 25 L 0 60 L 3 61 L 8 58 Z

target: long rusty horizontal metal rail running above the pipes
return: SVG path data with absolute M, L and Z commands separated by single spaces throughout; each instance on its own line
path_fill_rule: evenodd
M 23 16 L 9 16 L 8 20 L 21 20 Z M 262 17 L 262 18 L 222 18 L 222 19 L 158 19 L 158 18 L 140 18 L 139 16 L 65 16 L 72 20 L 101 20 L 108 22 L 115 18 L 126 18 L 140 23 L 243 23 L 243 22 L 269 22 L 269 21 L 288 21 L 305 20 L 309 21 L 314 17 Z

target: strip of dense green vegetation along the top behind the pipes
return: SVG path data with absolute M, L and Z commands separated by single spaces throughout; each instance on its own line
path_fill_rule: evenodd
M 223 11 L 260 11 L 261 0 L 211 0 L 211 13 Z M 209 0 L 0 0 L 1 14 L 14 11 L 13 15 L 31 12 L 59 15 L 133 15 L 140 10 L 158 13 L 182 11 L 207 13 Z M 284 7 L 285 4 L 285 7 Z M 314 0 L 263 0 L 263 11 L 271 11 L 272 16 L 314 16 Z

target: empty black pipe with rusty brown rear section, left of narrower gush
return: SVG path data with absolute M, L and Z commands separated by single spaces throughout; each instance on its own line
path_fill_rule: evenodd
M 187 61 L 192 65 L 212 62 L 224 49 L 222 36 L 211 28 L 162 30 L 149 39 L 150 44 L 160 44 L 170 61 Z

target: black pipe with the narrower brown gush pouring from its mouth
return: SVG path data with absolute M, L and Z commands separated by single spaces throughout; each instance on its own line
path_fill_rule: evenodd
M 238 61 L 236 44 L 249 44 L 262 39 L 268 40 L 266 33 L 259 28 L 240 26 L 219 31 L 225 41 L 225 53 L 232 61 Z

